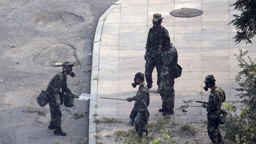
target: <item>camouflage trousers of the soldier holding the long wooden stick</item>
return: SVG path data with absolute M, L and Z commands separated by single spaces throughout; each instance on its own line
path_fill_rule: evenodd
M 136 133 L 139 137 L 142 137 L 143 132 L 148 135 L 148 117 L 140 117 L 139 124 L 135 124 Z

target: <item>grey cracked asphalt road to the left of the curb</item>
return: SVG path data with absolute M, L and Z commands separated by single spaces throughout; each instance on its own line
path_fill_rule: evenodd
M 49 105 L 37 96 L 62 67 L 77 64 L 68 88 L 90 93 L 91 56 L 99 17 L 117 0 L 0 1 L 0 144 L 88 144 L 89 101 L 61 105 L 62 130 L 48 129 Z

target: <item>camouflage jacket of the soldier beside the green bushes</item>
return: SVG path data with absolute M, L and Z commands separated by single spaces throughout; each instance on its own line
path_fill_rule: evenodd
M 211 94 L 209 95 L 209 102 L 207 106 L 207 115 L 215 115 L 218 116 L 218 110 L 221 109 L 221 103 L 225 102 L 226 96 L 225 92 L 221 89 L 215 86 L 213 90 L 211 90 Z

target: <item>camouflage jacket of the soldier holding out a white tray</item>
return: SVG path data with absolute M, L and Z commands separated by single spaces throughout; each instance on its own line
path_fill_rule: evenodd
M 56 74 L 48 83 L 48 87 L 46 88 L 45 92 L 48 96 L 59 94 L 59 90 L 65 91 L 69 94 L 71 91 L 67 88 L 67 77 L 65 76 L 64 72 L 59 72 Z

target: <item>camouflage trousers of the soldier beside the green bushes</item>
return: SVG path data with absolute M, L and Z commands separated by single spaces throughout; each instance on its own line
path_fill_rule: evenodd
M 222 136 L 219 130 L 219 118 L 210 118 L 207 116 L 207 132 L 209 138 L 211 139 L 213 144 L 219 144 L 222 141 Z

